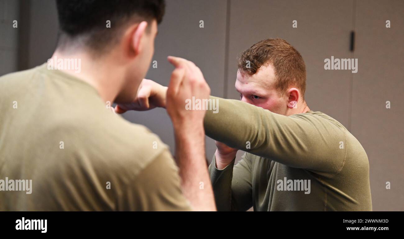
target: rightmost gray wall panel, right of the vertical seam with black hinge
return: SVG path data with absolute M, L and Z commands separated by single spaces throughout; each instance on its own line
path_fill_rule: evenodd
M 386 28 L 390 20 L 391 28 Z M 373 210 L 404 210 L 404 2 L 358 1 L 351 132 L 369 157 Z M 391 108 L 386 109 L 386 101 Z M 391 189 L 386 190 L 386 182 Z

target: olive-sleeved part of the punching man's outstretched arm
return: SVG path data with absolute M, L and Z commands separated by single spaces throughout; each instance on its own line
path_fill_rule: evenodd
M 242 101 L 210 99 L 219 104 L 217 113 L 209 110 L 204 118 L 210 138 L 294 168 L 330 173 L 341 169 L 343 126 L 310 113 L 285 116 Z

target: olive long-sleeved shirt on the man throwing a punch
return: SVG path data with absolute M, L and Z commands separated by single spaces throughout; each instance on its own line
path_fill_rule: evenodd
M 337 120 L 211 99 L 219 101 L 219 111 L 206 113 L 206 135 L 246 151 L 223 170 L 213 157 L 209 172 L 218 210 L 372 210 L 368 157 Z

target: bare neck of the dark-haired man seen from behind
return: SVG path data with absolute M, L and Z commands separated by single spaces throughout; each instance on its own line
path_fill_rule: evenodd
M 103 101 L 114 102 L 122 89 L 124 81 L 124 69 L 116 65 L 114 61 L 103 57 L 102 61 L 90 57 L 89 54 L 84 52 L 63 52 L 56 50 L 52 59 L 55 57 L 60 61 L 67 59 L 76 59 L 78 64 L 70 69 L 59 69 L 64 73 L 73 75 L 74 77 L 87 82 L 93 86 L 103 99 Z M 111 58 L 111 57 L 110 57 Z M 57 62 L 55 62 L 57 64 Z M 74 68 L 74 69 L 73 69 Z

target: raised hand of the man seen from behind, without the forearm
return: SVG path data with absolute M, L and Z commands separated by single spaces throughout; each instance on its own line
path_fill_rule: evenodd
M 167 90 L 166 109 L 173 121 L 173 126 L 203 125 L 205 110 L 187 110 L 186 100 L 209 99 L 210 88 L 200 69 L 191 61 L 179 57 L 168 57 L 168 61 L 175 66 L 171 74 Z

